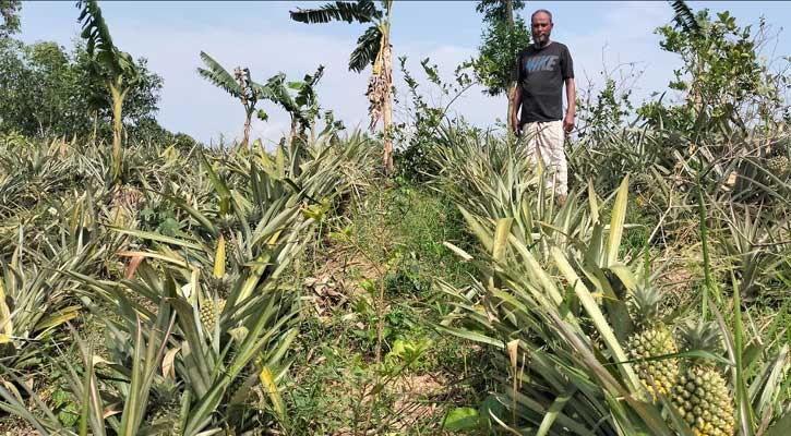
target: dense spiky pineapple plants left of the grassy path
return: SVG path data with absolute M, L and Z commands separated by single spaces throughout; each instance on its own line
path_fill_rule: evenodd
M 301 307 L 284 270 L 334 198 L 353 189 L 358 168 L 370 166 L 368 140 L 319 136 L 280 146 L 275 156 L 256 144 L 252 159 L 134 144 L 120 193 L 101 183 L 107 160 L 97 144 L 14 142 L 0 143 L 0 290 L 8 305 L 0 312 L 3 335 L 13 338 L 2 349 L 3 410 L 60 434 L 80 434 L 81 426 L 141 435 L 288 427 L 277 385 L 290 365 Z M 147 231 L 139 218 L 153 218 L 152 210 L 176 226 Z M 215 330 L 196 314 L 217 299 L 228 304 Z M 64 335 L 63 323 L 81 322 L 77 314 L 87 311 L 106 337 L 100 351 Z M 79 420 L 59 419 L 52 408 L 61 400 L 47 403 L 26 384 L 53 341 L 85 352 L 55 362 L 81 404 Z M 34 405 L 22 405 L 26 398 Z M 173 398 L 188 409 L 180 412 Z M 101 413 L 121 403 L 122 412 Z M 161 411 L 175 421 L 159 421 Z

